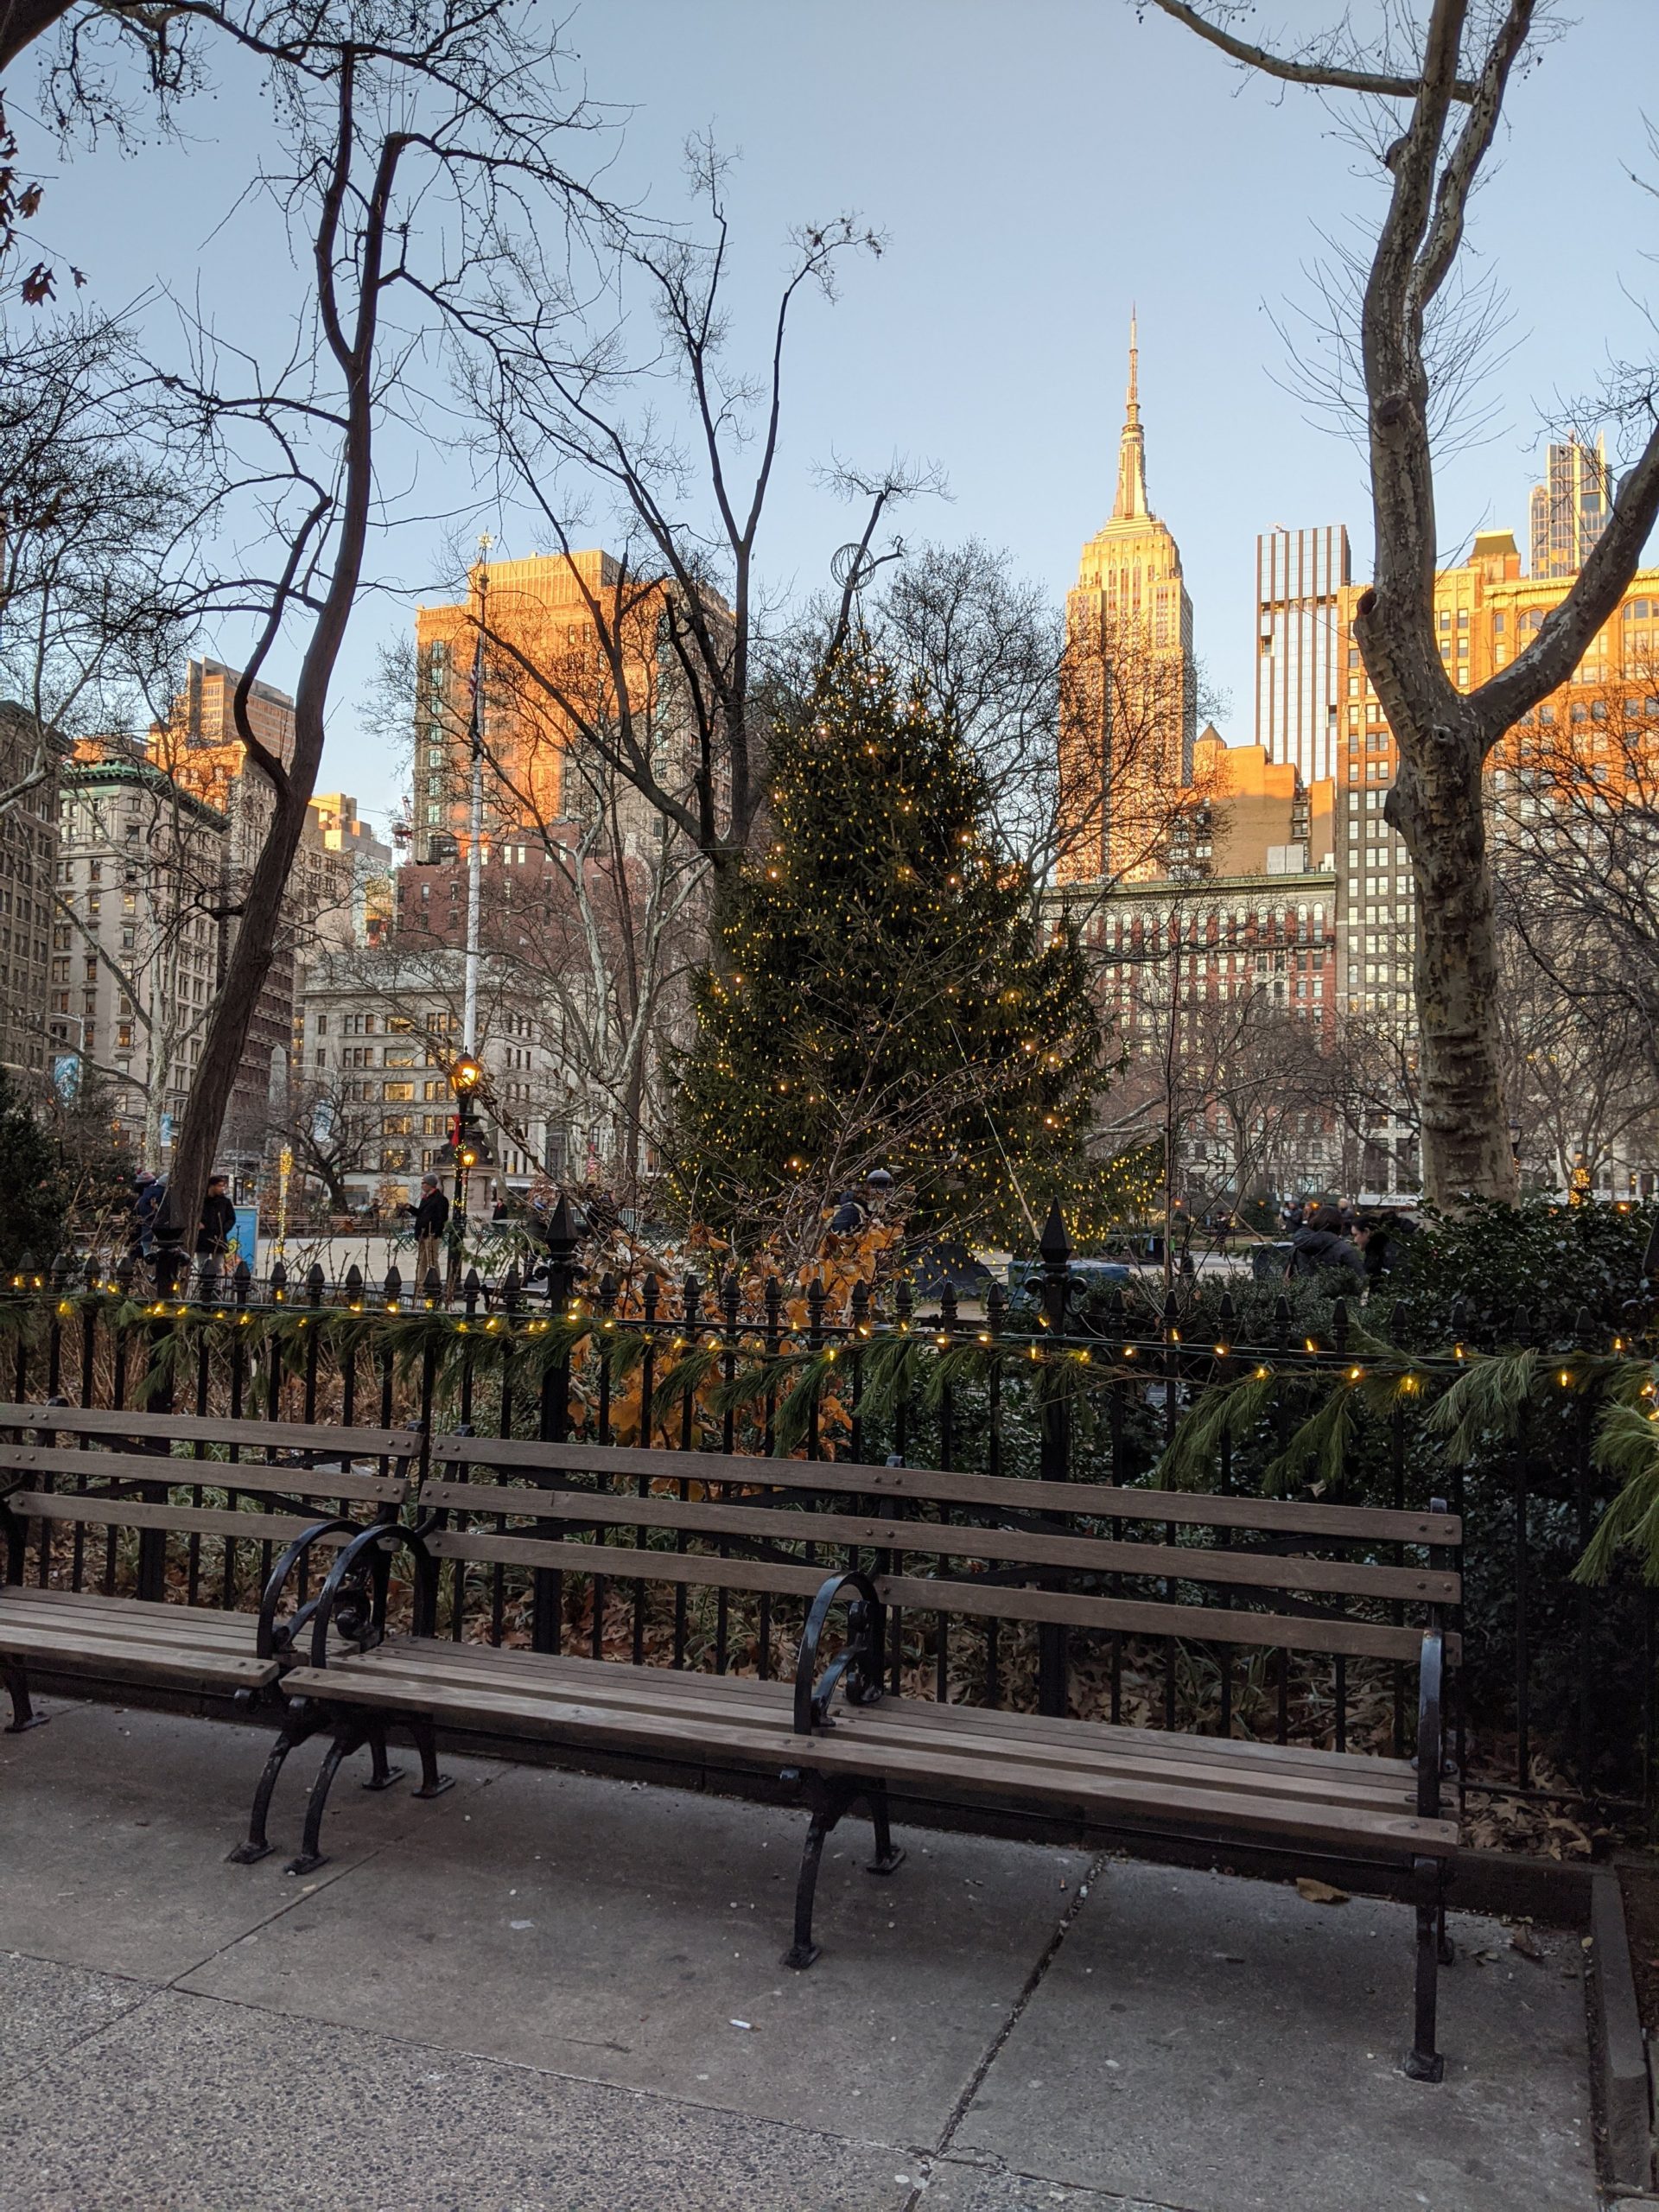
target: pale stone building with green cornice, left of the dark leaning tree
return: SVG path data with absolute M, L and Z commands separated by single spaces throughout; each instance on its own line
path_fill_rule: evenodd
M 49 1022 L 111 1086 L 119 1135 L 164 1168 L 219 984 L 228 823 L 139 748 L 62 772 Z

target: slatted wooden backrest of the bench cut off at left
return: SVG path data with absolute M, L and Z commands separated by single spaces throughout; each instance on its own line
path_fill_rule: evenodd
M 219 1595 L 232 1599 L 239 1546 L 290 1544 L 321 1520 L 396 1520 L 418 1471 L 409 1429 L 332 1429 L 283 1420 L 212 1420 L 106 1407 L 0 1405 L 0 1513 L 9 1571 L 40 1546 L 51 1573 L 58 1531 L 104 1531 L 104 1586 L 117 1577 L 117 1528 L 184 1540 L 201 1582 L 201 1540 L 223 1544 Z M 181 1453 L 179 1447 L 188 1447 Z M 347 1533 L 323 1544 L 349 1542 Z

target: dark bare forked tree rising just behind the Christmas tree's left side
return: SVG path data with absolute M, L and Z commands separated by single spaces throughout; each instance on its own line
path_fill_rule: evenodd
M 568 564 L 604 661 L 604 712 L 593 712 L 591 672 L 573 686 L 507 628 L 491 628 L 491 650 L 518 661 L 526 688 L 542 686 L 575 748 L 701 854 L 719 896 L 765 803 L 774 701 L 757 560 L 779 460 L 792 316 L 803 292 L 834 299 L 847 257 L 880 252 L 880 239 L 854 215 L 792 232 L 763 365 L 748 374 L 730 361 L 723 161 L 712 146 L 692 144 L 688 166 L 706 232 L 628 239 L 617 270 L 622 323 L 593 327 L 588 319 L 586 343 L 573 349 L 568 321 L 546 312 L 540 276 L 526 265 L 515 288 L 471 316 L 462 378 L 502 498 L 526 507 L 544 544 Z M 641 321 L 655 327 L 650 352 L 635 347 Z M 684 434 L 664 420 L 655 394 L 670 416 L 681 411 Z M 856 588 L 878 560 L 876 533 L 925 476 L 894 462 L 876 478 L 838 471 L 838 482 L 865 502 L 863 535 L 845 562 L 845 635 Z M 615 553 L 597 580 L 577 553 L 595 498 L 608 502 L 606 535 L 615 529 Z M 641 624 L 653 635 L 648 655 L 639 650 Z M 672 741 L 664 745 L 668 697 Z

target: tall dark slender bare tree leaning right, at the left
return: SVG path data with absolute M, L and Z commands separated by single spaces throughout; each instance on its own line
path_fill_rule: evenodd
M 243 33 L 243 44 L 272 73 L 294 153 L 292 170 L 268 181 L 303 243 L 312 294 L 274 374 L 204 332 L 192 374 L 173 380 L 179 416 L 199 418 L 243 500 L 263 509 L 276 553 L 274 575 L 210 593 L 219 613 L 246 613 L 257 626 L 234 721 L 272 810 L 179 1133 L 170 1183 L 179 1234 L 201 1206 L 316 785 L 330 684 L 376 520 L 378 425 L 389 409 L 418 405 L 411 369 L 422 343 L 462 288 L 484 281 L 509 234 L 538 221 L 562 230 L 593 208 L 557 166 L 562 133 L 582 108 L 557 102 L 555 49 L 524 38 L 504 0 L 422 0 L 396 20 L 378 0 L 338 0 L 307 15 L 299 46 L 263 33 Z M 403 321 L 396 301 L 407 303 Z M 303 630 L 294 748 L 276 759 L 248 699 L 292 626 Z

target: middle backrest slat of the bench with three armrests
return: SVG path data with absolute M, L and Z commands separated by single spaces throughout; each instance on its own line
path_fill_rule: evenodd
M 1270 1557 L 1199 1551 L 1175 1544 L 1126 1544 L 1046 1531 L 969 1528 L 945 1522 L 869 1520 L 852 1513 L 799 1513 L 792 1506 L 701 1504 L 626 1493 L 535 1491 L 526 1484 L 445 1482 L 420 1486 L 422 1509 L 511 1513 L 520 1520 L 564 1520 L 599 1528 L 686 1528 L 752 1535 L 774 1544 L 856 1544 L 949 1559 L 1011 1559 L 1031 1566 L 1095 1568 L 1152 1579 L 1221 1582 L 1263 1590 L 1323 1590 L 1345 1597 L 1402 1597 L 1413 1604 L 1458 1604 L 1455 1575 L 1416 1566 L 1369 1566 L 1347 1559 Z

